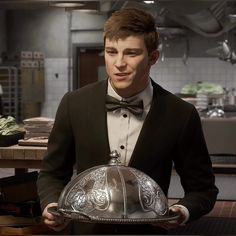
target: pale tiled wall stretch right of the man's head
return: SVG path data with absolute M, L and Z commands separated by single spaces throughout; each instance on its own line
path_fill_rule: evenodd
M 164 88 L 179 93 L 186 83 L 213 82 L 236 88 L 236 65 L 217 58 L 190 58 L 185 65 L 179 58 L 158 61 L 151 77 Z

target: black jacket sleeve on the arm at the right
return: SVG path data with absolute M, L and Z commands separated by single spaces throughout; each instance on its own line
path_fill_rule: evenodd
M 185 195 L 178 204 L 187 207 L 189 221 L 192 221 L 212 210 L 218 194 L 201 120 L 195 108 L 189 114 L 179 137 L 174 167 Z

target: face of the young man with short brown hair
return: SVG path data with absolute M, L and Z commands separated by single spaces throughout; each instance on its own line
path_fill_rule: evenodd
M 149 71 L 158 51 L 148 55 L 143 36 L 105 40 L 105 64 L 112 87 L 122 97 L 141 92 L 148 84 Z

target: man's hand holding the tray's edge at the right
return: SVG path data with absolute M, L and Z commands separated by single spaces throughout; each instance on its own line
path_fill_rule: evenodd
M 181 207 L 171 206 L 169 210 L 177 213 L 179 215 L 179 217 L 175 220 L 160 222 L 155 225 L 169 230 L 169 229 L 174 229 L 174 228 L 178 227 L 179 225 L 181 225 L 185 221 L 187 216 L 186 216 L 185 212 L 181 209 Z

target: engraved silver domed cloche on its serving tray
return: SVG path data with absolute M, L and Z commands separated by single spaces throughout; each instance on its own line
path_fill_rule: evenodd
M 176 219 L 158 184 L 121 164 L 113 151 L 108 165 L 85 170 L 67 184 L 52 214 L 85 222 L 152 223 Z

